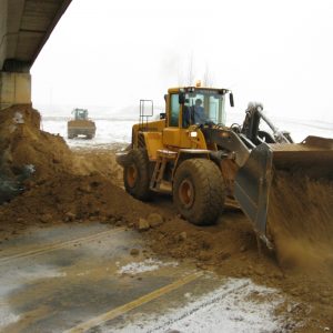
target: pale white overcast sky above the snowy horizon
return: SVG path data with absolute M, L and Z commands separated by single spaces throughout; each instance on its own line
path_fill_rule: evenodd
M 232 89 L 240 111 L 260 101 L 333 123 L 332 34 L 332 0 L 73 0 L 32 68 L 32 99 L 162 104 L 192 59 L 195 79 Z

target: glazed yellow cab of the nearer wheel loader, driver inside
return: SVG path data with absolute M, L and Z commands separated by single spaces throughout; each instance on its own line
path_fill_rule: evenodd
M 228 93 L 229 91 L 225 89 L 196 87 L 169 89 L 163 144 L 193 148 L 189 129 L 196 128 L 199 132 L 200 127 L 203 125 L 224 125 L 225 95 Z M 204 142 L 198 148 L 205 149 Z

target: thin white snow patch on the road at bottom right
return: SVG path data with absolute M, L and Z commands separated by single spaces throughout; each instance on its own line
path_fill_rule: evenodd
M 274 310 L 284 301 L 278 290 L 254 284 L 249 279 L 229 279 L 202 295 L 184 294 L 186 305 L 162 315 L 135 316 L 134 322 L 113 326 L 113 332 L 283 332 L 283 317 Z

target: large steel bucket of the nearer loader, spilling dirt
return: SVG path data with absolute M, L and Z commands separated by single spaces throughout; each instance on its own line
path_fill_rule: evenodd
M 270 203 L 279 204 L 276 200 L 272 200 L 271 194 L 272 192 L 276 193 L 276 189 L 279 188 L 276 183 L 280 179 L 279 174 L 290 176 L 290 186 L 293 186 L 293 175 L 301 175 L 303 180 L 324 179 L 333 182 L 333 140 L 307 137 L 301 143 L 262 143 L 252 150 L 245 164 L 238 171 L 234 196 L 243 212 L 253 223 L 254 230 L 269 248 L 273 248 L 271 235 L 268 233 L 268 225 L 270 218 L 272 218 L 270 216 L 270 212 L 272 211 Z M 302 182 L 299 182 L 297 185 L 301 184 L 302 186 Z M 282 190 L 279 188 L 279 191 L 281 192 Z M 297 196 L 295 193 L 293 194 L 289 192 L 285 195 Z M 283 193 L 279 195 L 283 199 L 283 204 L 287 206 L 289 198 L 283 196 Z M 329 198 L 327 200 L 330 200 L 333 206 L 333 198 Z M 319 206 L 320 204 L 316 205 Z M 284 208 L 280 209 L 283 210 Z M 326 208 L 323 209 L 327 211 Z M 315 212 L 311 212 L 311 215 L 315 216 Z M 284 219 L 292 220 L 290 218 Z M 330 216 L 327 219 L 330 220 Z M 331 220 L 333 220 L 332 216 Z M 292 221 L 285 221 L 285 223 L 295 224 Z

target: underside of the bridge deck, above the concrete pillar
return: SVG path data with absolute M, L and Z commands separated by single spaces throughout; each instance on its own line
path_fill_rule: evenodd
M 0 71 L 29 72 L 71 0 L 0 0 Z

